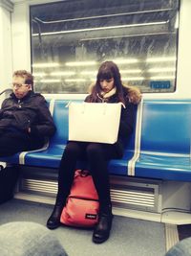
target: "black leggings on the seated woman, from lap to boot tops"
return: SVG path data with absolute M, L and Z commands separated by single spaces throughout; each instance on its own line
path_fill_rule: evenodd
M 73 183 L 76 162 L 86 159 L 96 186 L 100 206 L 109 205 L 111 198 L 107 164 L 112 158 L 118 158 L 114 145 L 70 141 L 59 166 L 56 201 L 65 203 Z

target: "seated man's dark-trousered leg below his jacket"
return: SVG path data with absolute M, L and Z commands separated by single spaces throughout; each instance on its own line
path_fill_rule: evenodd
M 5 131 L 0 134 L 0 156 L 10 156 L 19 151 L 28 151 L 30 142 L 22 133 Z

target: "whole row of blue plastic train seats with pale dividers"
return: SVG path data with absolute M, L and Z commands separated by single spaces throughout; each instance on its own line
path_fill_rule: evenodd
M 20 164 L 57 169 L 68 140 L 68 103 L 51 101 L 57 130 L 47 149 L 21 152 L 4 160 L 18 163 L 19 157 Z M 191 181 L 191 101 L 146 100 L 138 105 L 136 128 L 122 159 L 110 161 L 109 172 Z

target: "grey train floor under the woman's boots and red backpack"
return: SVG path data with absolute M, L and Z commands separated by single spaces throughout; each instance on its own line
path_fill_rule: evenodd
M 32 221 L 46 225 L 53 206 L 19 199 L 0 205 L 0 225 L 11 221 Z M 187 225 L 188 226 L 188 225 Z M 178 228 L 179 238 L 191 235 L 191 226 Z M 92 242 L 93 230 L 60 226 L 52 231 L 69 256 L 164 256 L 165 224 L 115 216 L 110 239 Z

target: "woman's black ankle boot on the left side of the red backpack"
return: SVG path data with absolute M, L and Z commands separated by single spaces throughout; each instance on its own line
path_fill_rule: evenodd
M 60 225 L 60 216 L 63 209 L 63 204 L 56 203 L 53 207 L 53 213 L 47 221 L 47 227 L 49 229 L 55 229 Z

